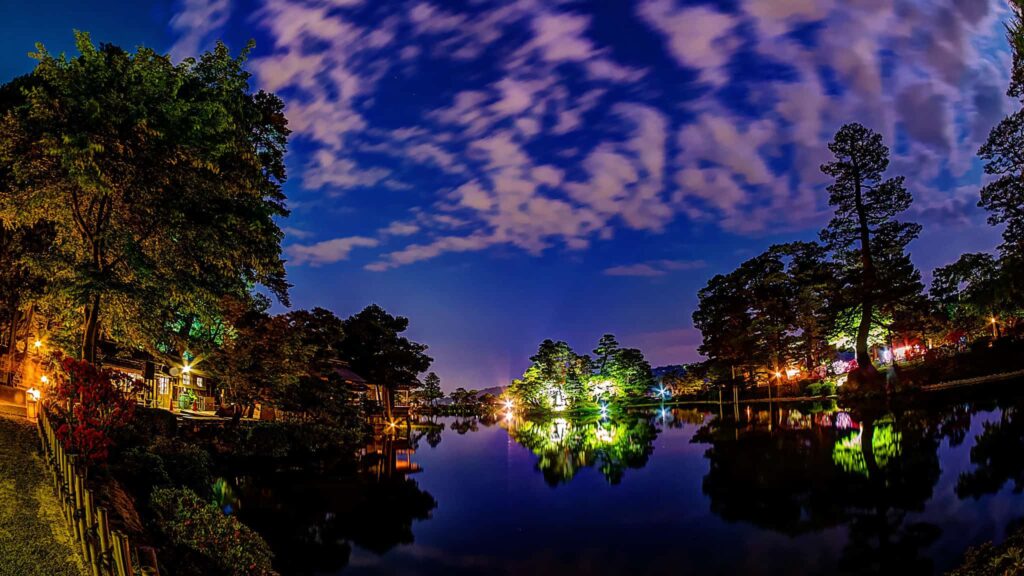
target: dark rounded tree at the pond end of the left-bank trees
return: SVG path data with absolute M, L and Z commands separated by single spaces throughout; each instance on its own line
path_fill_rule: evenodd
M 377 304 L 371 304 L 345 319 L 345 338 L 339 345 L 342 360 L 368 381 L 384 386 L 384 410 L 390 417 L 394 390 L 398 386 L 419 385 L 419 374 L 430 368 L 433 360 L 426 355 L 427 346 L 401 335 L 409 328 L 409 319 L 391 316 Z

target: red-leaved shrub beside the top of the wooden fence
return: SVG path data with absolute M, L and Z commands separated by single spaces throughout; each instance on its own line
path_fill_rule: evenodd
M 140 383 L 120 372 L 66 358 L 55 376 L 49 412 L 60 444 L 90 462 L 102 462 L 114 444 L 113 435 L 130 423 Z

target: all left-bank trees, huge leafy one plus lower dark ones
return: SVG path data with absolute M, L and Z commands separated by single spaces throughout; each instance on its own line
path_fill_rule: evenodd
M 336 360 L 389 390 L 419 384 L 431 360 L 402 336 L 408 319 L 267 312 L 269 297 L 289 305 L 276 221 L 289 128 L 282 100 L 249 86 L 251 45 L 174 64 L 76 43 L 74 57 L 39 46 L 35 71 L 0 87 L 9 374 L 42 337 L 93 364 L 108 342 L 197 359 L 229 401 L 311 419 L 347 417 Z

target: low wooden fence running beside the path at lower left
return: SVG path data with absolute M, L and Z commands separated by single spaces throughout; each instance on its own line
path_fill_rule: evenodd
M 89 573 L 92 576 L 159 576 L 152 548 L 147 549 L 147 556 L 153 567 L 136 568 L 141 564 L 139 550 L 135 550 L 136 562 L 132 562 L 128 536 L 120 530 L 111 530 L 106 508 L 97 506 L 92 490 L 85 487 L 85 462 L 65 452 L 45 410 L 39 410 L 38 424 L 53 489 L 69 529 L 81 546 Z

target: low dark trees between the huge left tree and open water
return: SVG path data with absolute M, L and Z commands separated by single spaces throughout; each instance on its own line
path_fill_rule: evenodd
M 382 385 L 390 396 L 385 406 L 393 405 L 399 386 L 423 385 L 418 374 L 432 360 L 426 345 L 402 335 L 409 319 L 377 304 L 344 320 L 322 307 L 270 316 L 265 298 L 253 300 L 238 306 L 231 333 L 200 365 L 237 402 L 269 403 L 322 424 L 354 422 L 360 406 L 337 370 L 339 361 Z M 429 376 L 427 383 L 439 386 Z

